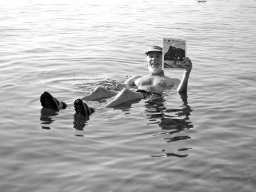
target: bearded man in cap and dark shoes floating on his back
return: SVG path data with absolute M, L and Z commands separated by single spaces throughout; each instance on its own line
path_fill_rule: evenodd
M 189 74 L 192 69 L 191 60 L 189 60 L 188 57 L 184 57 L 183 61 L 180 61 L 181 67 L 186 69 L 181 81 L 179 79 L 166 77 L 162 70 L 162 51 L 163 49 L 159 46 L 150 47 L 150 49 L 145 52 L 145 54 L 147 54 L 147 66 L 150 74 L 142 77 L 133 76 L 125 81 L 124 84 L 127 86 L 137 86 L 138 89 L 136 92 L 133 92 L 128 88 L 124 88 L 118 93 L 113 90 L 97 87 L 89 95 L 75 100 L 74 108 L 76 112 L 84 116 L 89 116 L 94 112 L 94 109 L 88 107 L 83 100 L 99 100 L 115 96 L 115 98 L 105 106 L 106 108 L 113 108 L 131 100 L 145 99 L 154 93 L 163 94 L 163 90 L 167 88 L 177 87 L 177 92 L 187 92 Z M 44 108 L 60 110 L 67 107 L 65 102 L 59 102 L 48 92 L 42 93 L 40 102 Z

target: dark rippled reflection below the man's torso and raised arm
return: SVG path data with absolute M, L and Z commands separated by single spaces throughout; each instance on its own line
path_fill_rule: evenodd
M 175 141 L 181 140 L 189 140 L 191 139 L 188 135 L 182 136 L 172 136 L 173 134 L 177 134 L 184 130 L 188 130 L 193 128 L 193 124 L 189 122 L 189 116 L 191 115 L 192 109 L 188 105 L 188 95 L 186 93 L 180 94 L 180 99 L 183 104 L 179 109 L 166 109 L 164 107 L 164 99 L 163 97 L 156 97 L 145 102 L 145 107 L 147 111 L 147 116 L 149 116 L 150 123 L 148 124 L 158 124 L 161 127 L 161 132 L 154 136 L 165 135 L 164 141 L 166 143 L 172 143 Z M 172 114 L 172 115 L 171 115 Z M 153 122 L 152 121 L 156 121 Z M 180 148 L 178 151 L 186 151 L 191 148 Z M 161 156 L 152 156 L 152 157 L 162 157 Z M 164 156 L 175 156 L 175 157 L 187 157 L 186 155 L 180 155 L 175 153 L 166 152 Z

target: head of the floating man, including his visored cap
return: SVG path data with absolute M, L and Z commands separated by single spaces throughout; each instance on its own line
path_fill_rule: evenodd
M 151 74 L 159 74 L 162 72 L 162 47 L 152 46 L 148 49 L 147 54 L 147 65 L 148 70 Z

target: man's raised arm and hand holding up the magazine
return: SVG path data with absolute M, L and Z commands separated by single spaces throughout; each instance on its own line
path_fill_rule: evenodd
M 183 93 L 183 92 L 187 92 L 188 89 L 188 79 L 189 79 L 189 75 L 192 69 L 192 62 L 188 57 L 184 57 L 183 61 L 180 61 L 180 66 L 186 68 L 186 70 L 184 71 L 182 80 L 180 81 L 180 84 L 177 88 L 177 92 L 179 93 Z

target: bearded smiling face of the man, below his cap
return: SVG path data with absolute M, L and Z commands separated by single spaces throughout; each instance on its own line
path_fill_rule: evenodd
M 148 52 L 147 55 L 148 70 L 152 74 L 158 74 L 162 71 L 162 52 Z

